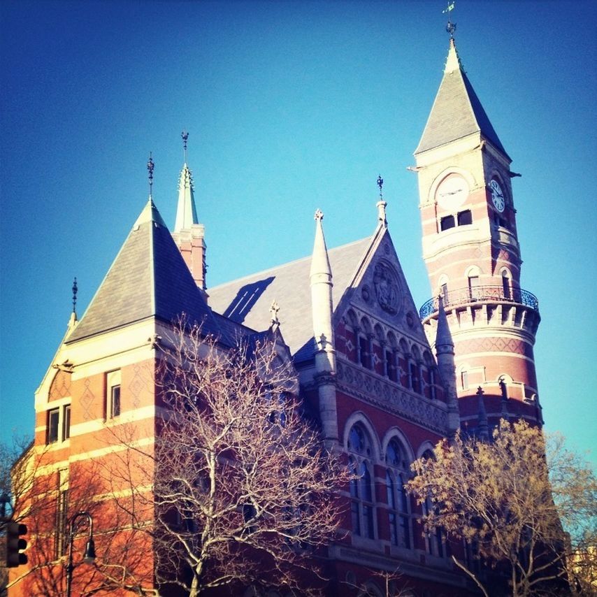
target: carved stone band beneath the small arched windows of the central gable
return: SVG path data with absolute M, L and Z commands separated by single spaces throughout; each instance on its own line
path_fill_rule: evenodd
M 392 412 L 426 429 L 447 433 L 447 405 L 419 396 L 371 371 L 338 359 L 339 391 Z

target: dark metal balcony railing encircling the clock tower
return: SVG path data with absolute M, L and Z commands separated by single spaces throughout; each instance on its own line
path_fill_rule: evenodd
M 444 307 L 452 308 L 476 303 L 514 303 L 525 305 L 539 312 L 537 297 L 522 288 L 504 288 L 503 286 L 475 286 L 473 288 L 459 288 L 443 294 Z M 419 309 L 419 317 L 425 319 L 438 310 L 438 297 L 429 299 Z

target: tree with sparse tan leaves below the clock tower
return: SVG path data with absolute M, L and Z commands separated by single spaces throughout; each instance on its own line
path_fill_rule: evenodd
M 408 489 L 419 503 L 431 501 L 426 528 L 440 526 L 473 546 L 508 576 L 516 597 L 568 591 L 575 538 L 595 525 L 593 471 L 560 443 L 547 449 L 550 477 L 546 449 L 540 429 L 502 421 L 489 442 L 458 435 L 438 444 L 435 459 L 412 464 Z M 452 557 L 488 596 L 482 577 Z

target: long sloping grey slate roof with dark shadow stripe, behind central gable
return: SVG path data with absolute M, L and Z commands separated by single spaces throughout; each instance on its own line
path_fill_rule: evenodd
M 334 309 L 370 244 L 371 238 L 364 238 L 329 250 Z M 270 325 L 269 309 L 275 300 L 280 305 L 280 331 L 290 352 L 296 354 L 313 336 L 310 267 L 309 256 L 210 288 L 210 306 L 235 322 L 264 330 Z

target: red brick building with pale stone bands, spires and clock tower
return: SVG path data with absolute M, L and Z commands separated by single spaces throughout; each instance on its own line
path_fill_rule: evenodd
M 520 287 L 510 158 L 453 40 L 415 156 L 424 259 L 440 297 L 420 314 L 383 199 L 377 213 L 372 205 L 372 236 L 327 250 L 318 211 L 312 256 L 208 288 L 205 232 L 187 164 L 173 233 L 150 197 L 84 315 L 71 318 L 36 393 L 29 566 L 39 568 L 11 596 L 64 590 L 66 522 L 78 503 L 103 497 L 93 512 L 100 530 L 114 516 L 110 496 L 119 479 L 99 478 L 95 467 L 110 468 L 125 425 L 151 449 L 160 417 L 158 344 L 171 322 L 184 312 L 232 346 L 238 335 L 268 329 L 274 302 L 301 396 L 319 413 L 326 443 L 345 452 L 360 475 L 343 489 L 347 534 L 328 549 L 328 594 L 384 595 L 380 571 L 395 575 L 392 587 L 403 594 L 476 594 L 450 559 L 454 553 L 467 561 L 465 547 L 440 532 L 422 533 L 420 510 L 403 484 L 410 463 L 461 425 L 487 433 L 500 417 L 541 422 L 533 364 L 540 317 L 535 297 Z M 34 502 L 42 495 L 41 515 Z M 155 594 L 152 546 L 126 521 L 119 528 L 96 533 L 97 551 L 118 563 L 112 584 L 80 575 L 85 586 L 76 590 L 125 594 L 116 588 L 124 584 Z M 23 574 L 13 570 L 11 579 Z

